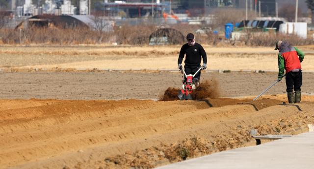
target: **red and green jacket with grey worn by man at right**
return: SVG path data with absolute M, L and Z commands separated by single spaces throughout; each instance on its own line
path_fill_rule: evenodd
M 287 42 L 283 42 L 279 47 L 278 54 L 278 67 L 279 74 L 278 77 L 284 75 L 285 69 L 286 73 L 293 69 L 302 69 L 301 62 L 304 59 L 304 53 L 294 46 L 290 46 Z

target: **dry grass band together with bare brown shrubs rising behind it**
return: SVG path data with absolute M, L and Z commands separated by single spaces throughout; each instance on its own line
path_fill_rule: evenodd
M 233 13 L 233 15 L 230 15 Z M 245 18 L 245 11 L 240 9 L 219 9 L 213 10 L 212 22 L 208 25 L 189 25 L 185 23 L 173 25 L 155 25 L 144 23 L 141 25 L 123 24 L 113 26 L 113 31 L 102 31 L 105 26 L 110 24 L 104 18 L 104 13 L 95 13 L 94 21 L 96 30 L 91 30 L 86 27 L 81 28 L 65 28 L 65 27 L 36 27 L 29 26 L 27 29 L 4 29 L 2 28 L 8 22 L 8 17 L 0 12 L 0 43 L 1 44 L 58 44 L 58 45 L 73 45 L 73 44 L 127 44 L 127 45 L 148 45 L 150 36 L 160 28 L 171 28 L 178 30 L 183 35 L 183 41 L 187 33 L 195 33 L 196 30 L 210 27 L 211 30 L 219 31 L 219 35 L 212 32 L 205 34 L 196 34 L 196 41 L 201 44 L 209 44 L 216 46 L 273 46 L 278 40 L 285 40 L 293 45 L 308 45 L 314 44 L 312 38 L 301 39 L 295 35 L 283 35 L 279 33 L 257 34 L 255 30 L 247 30 L 247 36 L 238 41 L 225 40 L 224 24 L 227 22 L 236 23 Z M 256 17 L 254 12 L 248 13 L 248 19 Z M 2 28 L 2 29 L 1 29 Z M 181 36 L 182 36 L 181 35 Z M 177 41 L 179 35 L 172 33 L 170 36 L 176 36 L 176 41 L 171 44 L 181 44 L 182 41 Z M 182 39 L 180 36 L 179 39 Z M 310 37 L 310 36 L 309 36 Z

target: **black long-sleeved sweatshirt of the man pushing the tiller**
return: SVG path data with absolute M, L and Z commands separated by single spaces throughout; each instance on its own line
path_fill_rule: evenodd
M 182 64 L 184 54 L 186 54 L 184 63 L 187 67 L 195 67 L 201 65 L 202 58 L 203 63 L 207 63 L 206 52 L 203 46 L 199 43 L 195 43 L 193 46 L 189 46 L 187 43 L 183 44 L 180 50 L 178 64 Z

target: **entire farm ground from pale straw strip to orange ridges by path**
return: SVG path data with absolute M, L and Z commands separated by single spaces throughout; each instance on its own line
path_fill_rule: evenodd
M 285 80 L 252 101 L 277 72 L 202 72 L 219 98 L 163 102 L 182 85 L 179 72 L 55 68 L 176 69 L 177 48 L 0 46 L 0 169 L 154 168 L 252 146 L 251 129 L 298 134 L 314 124 L 314 73 L 303 73 L 302 102 L 287 105 Z M 314 70 L 314 47 L 302 49 Z M 272 48 L 206 50 L 211 69 L 277 71 Z

